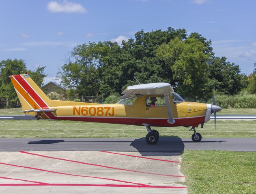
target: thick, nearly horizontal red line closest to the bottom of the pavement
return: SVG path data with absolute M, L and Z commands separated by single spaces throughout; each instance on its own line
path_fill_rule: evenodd
M 0 186 L 90 186 L 90 187 L 128 187 L 128 188 L 166 188 L 166 189 L 185 189 L 181 186 L 139 186 L 139 185 L 118 185 L 118 184 L 59 184 L 59 183 L 45 183 L 45 184 L 0 184 Z

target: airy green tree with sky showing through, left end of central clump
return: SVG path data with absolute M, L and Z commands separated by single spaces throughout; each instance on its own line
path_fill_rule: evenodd
M 77 45 L 69 55 L 62 71 L 63 84 L 70 89 L 76 89 L 79 96 L 95 96 L 99 91 L 99 70 L 102 66 L 102 54 L 108 52 L 101 43 Z

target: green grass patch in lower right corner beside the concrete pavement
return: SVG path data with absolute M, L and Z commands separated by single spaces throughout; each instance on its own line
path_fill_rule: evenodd
M 182 155 L 189 194 L 255 194 L 256 153 L 188 151 Z

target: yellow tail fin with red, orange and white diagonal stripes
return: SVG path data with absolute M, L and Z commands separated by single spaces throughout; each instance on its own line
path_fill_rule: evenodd
M 50 99 L 37 84 L 28 76 L 9 76 L 22 105 L 22 111 L 32 109 L 49 109 Z M 35 115 L 34 112 L 28 114 Z

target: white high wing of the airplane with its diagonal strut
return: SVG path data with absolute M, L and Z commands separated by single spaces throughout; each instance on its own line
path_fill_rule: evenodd
M 175 120 L 172 116 L 172 109 L 170 105 L 169 94 L 174 93 L 171 84 L 168 83 L 151 83 L 151 84 L 139 84 L 134 86 L 128 86 L 122 94 L 121 98 L 134 97 L 138 95 L 164 95 L 166 101 L 166 108 L 168 113 L 168 123 L 173 124 Z

